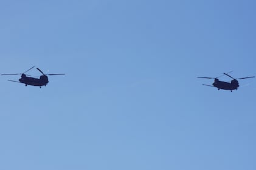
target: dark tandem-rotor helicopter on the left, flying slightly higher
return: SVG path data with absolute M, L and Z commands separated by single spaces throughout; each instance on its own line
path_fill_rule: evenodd
M 27 85 L 32 85 L 32 86 L 38 86 L 38 87 L 42 87 L 42 86 L 46 86 L 47 83 L 49 83 L 48 81 L 48 77 L 47 76 L 55 76 L 55 75 L 64 75 L 64 74 L 44 74 L 43 71 L 41 71 L 39 68 L 36 68 L 38 71 L 40 71 L 41 75 L 40 78 L 35 78 L 35 77 L 31 77 L 27 73 L 28 71 L 30 71 L 32 68 L 34 68 L 35 66 L 29 68 L 29 70 L 25 71 L 24 73 L 15 73 L 15 74 L 1 74 L 2 76 L 6 76 L 6 75 L 18 75 L 21 74 L 21 78 L 19 79 L 19 81 L 15 81 L 15 80 L 9 80 L 10 82 L 17 82 L 17 83 L 24 83 L 25 86 Z

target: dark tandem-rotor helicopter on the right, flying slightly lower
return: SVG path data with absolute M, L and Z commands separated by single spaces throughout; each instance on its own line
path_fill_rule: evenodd
M 206 85 L 206 84 L 202 84 L 202 85 L 206 85 L 206 86 L 209 86 L 209 87 L 216 87 L 216 88 L 218 88 L 218 90 L 220 90 L 220 89 L 230 90 L 232 92 L 232 90 L 238 90 L 238 87 L 239 87 L 238 80 L 249 79 L 249 78 L 254 78 L 255 77 L 255 76 L 251 76 L 251 77 L 242 77 L 242 78 L 235 79 L 234 77 L 230 76 L 228 73 L 223 73 L 223 74 L 230 77 L 233 80 L 231 80 L 231 82 L 223 82 L 223 81 L 220 81 L 218 79 L 218 77 L 216 77 L 216 78 L 213 78 L 213 77 L 198 77 L 198 78 L 214 79 L 214 82 L 212 83 L 212 85 Z

